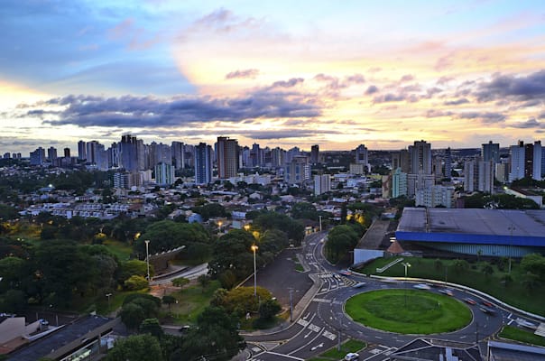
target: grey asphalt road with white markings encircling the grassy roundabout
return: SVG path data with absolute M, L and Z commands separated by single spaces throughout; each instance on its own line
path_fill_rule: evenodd
M 300 314 L 294 315 L 293 323 L 289 327 L 273 330 L 272 332 L 258 332 L 245 335 L 248 342 L 248 354 L 253 360 L 304 360 L 318 356 L 330 347 L 336 347 L 346 338 L 364 340 L 368 347 L 360 353 L 360 360 L 385 360 L 399 347 L 407 344 L 414 338 L 440 338 L 445 340 L 475 343 L 476 340 L 484 346 L 485 340 L 497 332 L 503 324 L 513 324 L 515 319 L 523 317 L 514 315 L 509 310 L 494 307 L 494 315 L 485 314 L 479 309 L 480 305 L 467 304 L 473 313 L 473 319 L 464 329 L 455 332 L 436 335 L 399 335 L 370 329 L 353 322 L 344 311 L 345 301 L 359 292 L 372 290 L 406 288 L 415 282 L 382 282 L 378 279 L 353 274 L 340 275 L 339 269 L 328 264 L 321 255 L 323 234 L 309 236 L 305 245 L 300 249 L 309 273 L 318 276 L 319 284 L 316 292 L 309 299 L 303 298 L 305 307 Z M 273 279 L 281 282 L 279 290 L 286 290 L 291 285 L 291 273 L 282 266 L 274 268 Z M 264 273 L 264 272 L 263 272 Z M 259 277 L 258 273 L 258 277 Z M 356 282 L 366 282 L 363 288 L 354 288 Z M 259 278 L 258 278 L 258 284 Z M 264 284 L 263 284 L 264 286 Z M 311 290 L 311 289 L 310 289 Z M 439 292 L 440 288 L 430 291 Z M 452 289 L 453 297 L 462 301 L 471 297 L 482 301 L 477 295 L 462 290 Z M 278 297 L 278 296 L 277 296 Z M 280 299 L 280 298 L 279 298 Z M 535 323 L 535 321 L 533 321 Z M 482 350 L 484 348 L 481 348 Z

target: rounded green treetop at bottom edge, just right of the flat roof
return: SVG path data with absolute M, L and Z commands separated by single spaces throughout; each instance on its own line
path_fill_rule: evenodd
M 106 361 L 162 361 L 162 350 L 157 338 L 149 334 L 134 335 L 115 342 L 108 351 Z

